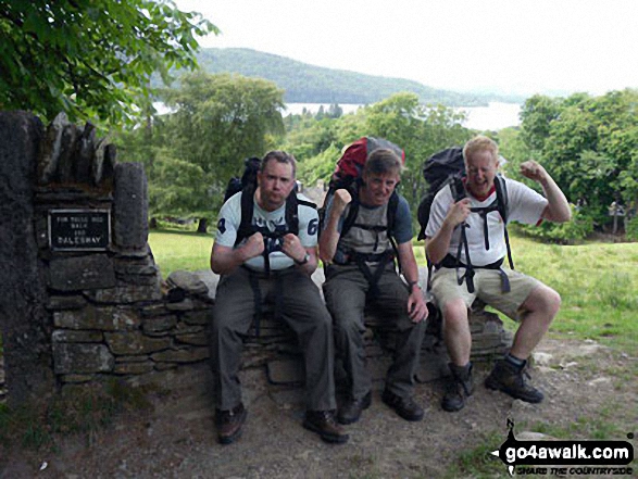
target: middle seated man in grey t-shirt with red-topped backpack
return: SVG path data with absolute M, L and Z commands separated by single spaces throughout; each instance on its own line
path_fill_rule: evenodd
M 320 239 L 321 259 L 328 265 L 324 295 L 335 319 L 337 356 L 348 375 L 348 395 L 337 414 L 341 424 L 355 423 L 371 405 L 372 379 L 362 332 L 364 308 L 372 304 L 385 313 L 384 318 L 397 332 L 381 400 L 405 420 L 421 420 L 424 415 L 412 395 L 427 305 L 412 250 L 410 207 L 395 191 L 401 168 L 393 151 L 374 150 L 365 162 L 361 184 L 353 190 L 356 200 L 346 189 L 335 191 Z M 393 225 L 388 224 L 388 212 L 393 214 Z M 351 227 L 343 228 L 352 216 Z M 395 270 L 390 237 L 397 242 L 405 281 Z

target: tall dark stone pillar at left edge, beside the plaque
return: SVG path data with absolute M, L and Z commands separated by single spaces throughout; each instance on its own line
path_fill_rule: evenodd
M 0 112 L 0 327 L 9 404 L 52 391 L 47 293 L 38 273 L 34 188 L 43 128 L 26 112 Z

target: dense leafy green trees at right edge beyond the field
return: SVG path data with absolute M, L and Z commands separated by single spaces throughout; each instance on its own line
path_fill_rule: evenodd
M 521 137 L 570 201 L 598 228 L 612 202 L 638 194 L 638 90 L 566 99 L 535 96 L 523 106 Z

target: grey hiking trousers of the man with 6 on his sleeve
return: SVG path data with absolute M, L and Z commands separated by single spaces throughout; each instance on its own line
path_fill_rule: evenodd
M 305 361 L 307 407 L 336 408 L 331 318 L 312 279 L 291 267 L 264 274 L 238 267 L 220 279 L 211 328 L 211 360 L 216 407 L 232 409 L 241 402 L 238 371 L 246 335 L 255 313 L 250 275 L 259 281 L 260 300 L 276 303 L 282 318 L 296 332 Z

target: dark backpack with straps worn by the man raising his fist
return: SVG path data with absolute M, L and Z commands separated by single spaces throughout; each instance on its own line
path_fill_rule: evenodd
M 417 239 L 423 240 L 425 239 L 425 228 L 427 227 L 427 222 L 429 220 L 429 212 L 431 209 L 431 203 L 434 202 L 435 197 L 437 193 L 443 189 L 449 187 L 452 192 L 452 198 L 454 202 L 458 202 L 465 198 L 465 186 L 463 184 L 463 179 L 465 177 L 465 162 L 463 160 L 463 150 L 461 148 L 449 148 L 438 153 L 435 153 L 429 159 L 427 159 L 423 165 L 423 177 L 428 184 L 428 190 L 425 193 L 423 200 L 418 204 L 417 210 L 417 219 L 418 224 L 421 225 L 421 229 L 418 231 Z M 504 226 L 504 237 L 505 237 L 505 247 L 508 249 L 508 261 L 510 263 L 510 267 L 514 269 L 514 262 L 512 260 L 512 251 L 510 249 L 510 236 L 508 234 L 508 188 L 505 185 L 505 179 L 502 175 L 497 174 L 495 177 L 495 189 L 496 189 L 496 200 L 485 207 L 472 207 L 472 213 L 477 213 L 483 216 L 484 219 L 484 237 L 485 237 L 485 249 L 489 250 L 489 237 L 488 237 L 488 229 L 487 229 L 487 214 L 493 211 L 497 211 L 501 218 L 503 219 Z M 501 280 L 502 280 L 502 288 L 503 291 L 510 290 L 510 285 L 506 275 L 501 269 L 502 261 L 499 261 L 491 265 L 486 266 L 474 266 L 472 265 L 472 261 L 470 257 L 470 248 L 467 244 L 467 238 L 465 235 L 465 223 L 460 225 L 461 227 L 461 241 L 459 243 L 459 249 L 456 251 L 456 256 L 452 256 L 448 254 L 442 261 L 441 265 L 446 267 L 455 267 L 456 268 L 456 278 L 459 285 L 462 285 L 463 279 L 466 280 L 467 290 L 472 293 L 474 292 L 474 268 L 475 267 L 484 267 L 490 269 L 498 269 L 501 272 Z M 467 264 L 461 263 L 461 251 L 462 248 L 464 249 L 465 259 Z M 428 268 L 428 280 L 427 280 L 427 289 L 429 290 L 430 278 L 431 278 L 431 270 L 433 264 L 427 259 L 427 268 Z M 459 268 L 464 267 L 465 274 L 459 275 Z

